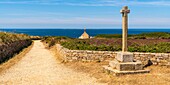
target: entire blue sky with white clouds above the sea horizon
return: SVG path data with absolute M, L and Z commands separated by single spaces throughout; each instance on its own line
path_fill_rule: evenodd
M 0 0 L 0 28 L 170 28 L 170 0 Z

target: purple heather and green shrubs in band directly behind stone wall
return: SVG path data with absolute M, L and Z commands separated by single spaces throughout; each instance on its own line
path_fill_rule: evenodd
M 71 50 L 121 51 L 121 39 L 69 40 L 61 45 Z M 170 53 L 170 39 L 130 39 L 130 52 Z

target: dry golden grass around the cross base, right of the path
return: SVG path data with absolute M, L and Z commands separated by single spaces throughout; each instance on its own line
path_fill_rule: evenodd
M 55 54 L 57 60 L 62 61 L 54 48 L 50 50 Z M 109 85 L 170 85 L 170 68 L 166 66 L 150 66 L 147 69 L 150 69 L 151 72 L 146 74 L 113 76 L 104 73 L 102 68 L 103 65 L 108 65 L 108 62 L 66 62 L 63 64 L 77 72 L 88 73 L 97 78 L 99 82 Z

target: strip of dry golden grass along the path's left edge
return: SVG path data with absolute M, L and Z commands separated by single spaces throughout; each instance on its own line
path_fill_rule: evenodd
M 34 44 L 34 42 L 32 42 L 32 45 L 30 45 L 29 47 L 23 49 L 22 52 L 20 52 L 19 54 L 16 54 L 13 58 L 11 58 L 7 62 L 1 64 L 0 65 L 0 73 L 5 71 L 6 69 L 9 69 L 11 66 L 15 65 L 18 61 L 20 61 L 22 59 L 22 57 L 25 56 L 25 54 L 31 50 L 33 44 Z

